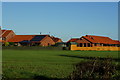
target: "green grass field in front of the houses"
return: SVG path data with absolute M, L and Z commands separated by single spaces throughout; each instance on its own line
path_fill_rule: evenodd
M 3 50 L 3 75 L 7 78 L 66 78 L 74 64 L 86 57 L 118 58 L 117 51 Z

